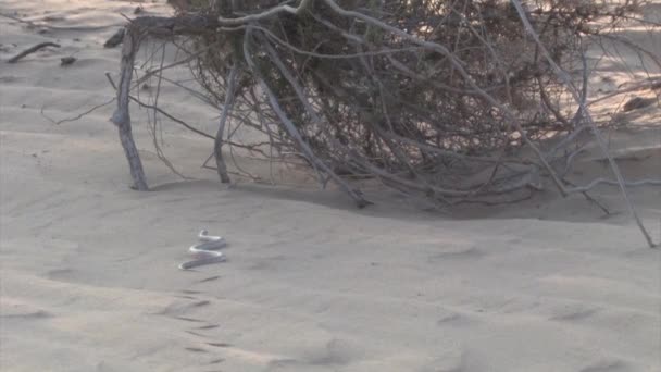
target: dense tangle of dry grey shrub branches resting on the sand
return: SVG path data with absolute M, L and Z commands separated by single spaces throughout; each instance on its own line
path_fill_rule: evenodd
M 586 50 L 638 5 L 176 3 L 175 17 L 138 18 L 128 35 L 188 35 L 189 50 L 201 51 L 189 62 L 205 97 L 222 108 L 214 146 L 222 182 L 229 182 L 221 151 L 226 123 L 238 120 L 269 138 L 275 156 L 299 153 L 320 182 L 332 179 L 361 207 L 367 201 L 358 177 L 449 206 L 522 198 L 542 188 L 542 177 L 563 195 L 586 193 L 565 181 L 582 145 L 576 134 L 599 136 L 586 106 Z

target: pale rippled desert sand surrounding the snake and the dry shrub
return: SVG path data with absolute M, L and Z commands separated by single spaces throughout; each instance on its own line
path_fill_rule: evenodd
M 0 370 L 661 371 L 660 250 L 615 188 L 596 189 L 607 216 L 551 191 L 434 213 L 378 190 L 357 210 L 333 190 L 226 188 L 199 166 L 209 140 L 164 122 L 164 151 L 190 179 L 172 174 L 134 107 L 153 190 L 129 189 L 112 106 L 45 115 L 113 97 L 104 72 L 116 77 L 120 48 L 103 42 L 137 5 L 0 1 L 43 26 L 0 17 Z M 62 47 L 5 63 L 42 41 Z M 629 77 L 610 66 L 604 89 Z M 216 112 L 163 91 L 213 131 Z M 609 133 L 631 178 L 661 177 L 660 112 Z M 598 151 L 576 172 L 608 175 Z M 631 194 L 658 241 L 661 187 Z M 228 260 L 180 271 L 200 228 L 227 239 Z

